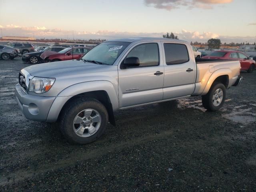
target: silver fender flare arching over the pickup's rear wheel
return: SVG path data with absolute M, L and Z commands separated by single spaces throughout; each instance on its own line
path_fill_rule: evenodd
M 230 77 L 230 74 L 232 74 L 232 71 L 230 70 L 230 68 L 222 68 L 214 71 L 210 76 L 210 78 L 208 79 L 201 95 L 206 95 L 209 92 L 212 86 L 212 83 L 216 80 L 216 78 L 222 75 L 228 75 L 228 77 Z M 228 86 L 231 86 L 230 82 L 228 83 Z

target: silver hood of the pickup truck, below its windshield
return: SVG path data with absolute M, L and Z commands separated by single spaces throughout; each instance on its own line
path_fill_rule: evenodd
M 24 68 L 24 70 L 29 72 L 32 76 L 54 78 L 61 73 L 82 70 L 84 70 L 85 73 L 88 73 L 90 70 L 103 67 L 106 67 L 106 65 L 83 62 L 82 60 L 67 60 L 31 65 Z

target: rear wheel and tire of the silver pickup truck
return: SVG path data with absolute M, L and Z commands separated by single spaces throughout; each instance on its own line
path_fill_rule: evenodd
M 222 92 L 220 92 L 220 90 Z M 215 98 L 213 98 L 214 95 L 216 96 Z M 225 98 L 226 87 L 224 86 L 224 84 L 220 82 L 214 82 L 209 92 L 206 95 L 202 96 L 202 104 L 204 108 L 209 111 L 217 111 L 223 106 Z

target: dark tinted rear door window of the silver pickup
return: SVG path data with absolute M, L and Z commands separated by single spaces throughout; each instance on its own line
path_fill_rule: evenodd
M 189 61 L 188 50 L 184 44 L 164 44 L 165 62 L 167 65 L 182 64 Z

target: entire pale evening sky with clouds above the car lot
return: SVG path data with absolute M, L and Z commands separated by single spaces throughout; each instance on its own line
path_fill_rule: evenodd
M 256 42 L 256 0 L 0 0 L 3 36 Z M 74 31 L 74 32 L 73 32 Z

